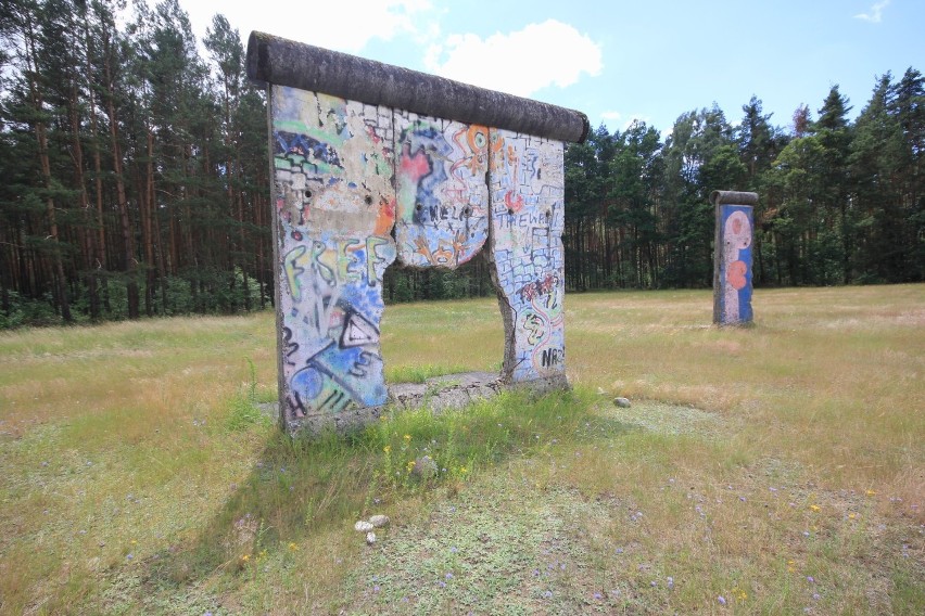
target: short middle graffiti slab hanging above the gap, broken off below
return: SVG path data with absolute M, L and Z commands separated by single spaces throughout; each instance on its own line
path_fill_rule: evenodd
M 487 129 L 395 114 L 398 259 L 454 269 L 487 238 Z

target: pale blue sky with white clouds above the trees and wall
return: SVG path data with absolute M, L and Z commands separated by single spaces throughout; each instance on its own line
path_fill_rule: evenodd
M 153 3 L 153 0 L 151 0 Z M 833 86 L 853 119 L 878 76 L 925 72 L 923 0 L 179 0 L 202 39 L 216 12 L 251 30 L 584 112 L 611 132 L 668 134 L 752 95 L 771 123 L 813 117 Z

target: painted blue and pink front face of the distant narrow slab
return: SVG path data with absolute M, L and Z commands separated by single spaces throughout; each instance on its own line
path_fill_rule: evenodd
M 721 322 L 751 321 L 750 206 L 721 205 L 722 255 L 719 262 Z

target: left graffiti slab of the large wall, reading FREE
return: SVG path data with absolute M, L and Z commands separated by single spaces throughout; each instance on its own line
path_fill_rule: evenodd
M 381 405 L 391 111 L 274 87 L 271 114 L 286 416 Z

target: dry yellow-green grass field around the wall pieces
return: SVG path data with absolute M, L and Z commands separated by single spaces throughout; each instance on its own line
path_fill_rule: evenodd
M 313 442 L 271 313 L 2 333 L 0 613 L 925 614 L 925 285 L 753 305 L 569 295 L 572 393 Z M 494 300 L 382 329 L 390 380 L 499 365 Z

